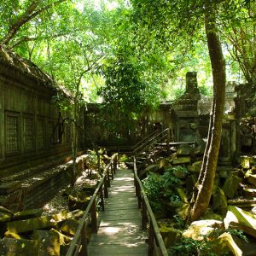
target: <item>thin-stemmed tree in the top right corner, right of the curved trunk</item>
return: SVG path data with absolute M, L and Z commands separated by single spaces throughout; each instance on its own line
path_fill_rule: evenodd
M 222 35 L 227 40 L 230 55 L 241 67 L 249 84 L 256 85 L 256 2 L 226 3 L 230 12 L 224 13 Z M 237 9 L 237 5 L 240 6 Z

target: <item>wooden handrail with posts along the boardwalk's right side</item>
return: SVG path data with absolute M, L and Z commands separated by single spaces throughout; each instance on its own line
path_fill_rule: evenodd
M 149 221 L 149 236 L 148 236 L 148 256 L 154 255 L 155 247 L 160 250 L 161 256 L 168 256 L 165 243 L 160 234 L 158 224 L 154 218 L 154 213 L 148 202 L 147 195 L 143 189 L 143 183 L 137 175 L 136 157 L 134 157 L 134 182 L 136 188 L 136 195 L 138 198 L 138 207 L 142 208 L 142 229 L 147 229 L 147 223 Z

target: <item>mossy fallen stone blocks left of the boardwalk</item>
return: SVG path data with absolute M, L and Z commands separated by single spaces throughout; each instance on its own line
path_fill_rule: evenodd
M 0 254 L 65 255 L 99 178 L 93 172 L 89 180 L 84 172 L 73 188 L 62 190 L 43 208 L 12 212 L 0 207 Z

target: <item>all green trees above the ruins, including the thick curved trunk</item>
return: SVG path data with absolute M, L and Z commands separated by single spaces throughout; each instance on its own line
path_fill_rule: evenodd
M 67 87 L 73 103 L 61 108 L 73 120 L 86 102 L 118 109 L 119 122 L 137 119 L 180 95 L 184 73 L 198 71 L 213 104 L 192 221 L 210 200 L 226 81 L 256 85 L 255 12 L 254 0 L 6 0 L 0 45 Z M 74 157 L 77 132 L 73 124 Z

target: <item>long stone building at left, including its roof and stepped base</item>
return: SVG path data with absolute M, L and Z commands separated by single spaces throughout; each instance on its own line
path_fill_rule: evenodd
M 56 93 L 69 97 L 33 63 L 0 47 L 2 206 L 12 210 L 36 206 L 69 183 L 67 172 L 72 166 L 55 167 L 71 160 L 71 127 L 61 124 L 52 101 Z M 62 119 L 67 116 L 61 113 Z

